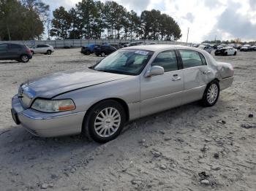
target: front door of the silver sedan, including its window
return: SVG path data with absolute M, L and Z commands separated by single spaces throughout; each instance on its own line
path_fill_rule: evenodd
M 160 52 L 151 66 L 162 66 L 165 73 L 140 79 L 140 116 L 161 112 L 182 103 L 184 74 L 178 70 L 175 50 Z

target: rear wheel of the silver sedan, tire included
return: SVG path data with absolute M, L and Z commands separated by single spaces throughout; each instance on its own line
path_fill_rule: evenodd
M 205 92 L 203 93 L 203 98 L 201 100 L 203 106 L 214 106 L 219 98 L 219 82 L 214 80 L 210 82 Z

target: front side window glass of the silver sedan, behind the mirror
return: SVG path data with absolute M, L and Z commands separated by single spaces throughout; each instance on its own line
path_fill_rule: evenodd
M 162 66 L 165 69 L 165 72 L 178 70 L 178 62 L 175 51 L 167 50 L 160 52 L 154 59 L 153 63 L 151 63 L 151 66 Z

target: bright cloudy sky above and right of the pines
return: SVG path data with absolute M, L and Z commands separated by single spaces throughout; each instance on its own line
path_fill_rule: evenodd
M 81 0 L 42 0 L 54 10 L 70 9 Z M 101 0 L 106 1 L 106 0 Z M 173 17 L 181 28 L 179 41 L 203 42 L 240 38 L 256 40 L 256 0 L 113 0 L 140 14 L 143 10 L 159 9 Z

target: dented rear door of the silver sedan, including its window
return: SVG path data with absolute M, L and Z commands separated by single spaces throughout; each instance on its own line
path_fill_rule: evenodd
M 207 66 L 206 58 L 195 50 L 179 50 L 184 72 L 183 104 L 200 100 L 203 97 L 209 78 L 214 72 Z

